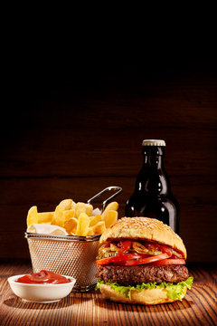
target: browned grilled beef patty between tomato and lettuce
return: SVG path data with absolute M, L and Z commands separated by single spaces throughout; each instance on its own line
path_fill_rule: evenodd
M 187 280 L 188 270 L 184 265 L 100 265 L 97 277 L 105 282 L 121 285 L 135 285 L 140 283 L 178 283 Z

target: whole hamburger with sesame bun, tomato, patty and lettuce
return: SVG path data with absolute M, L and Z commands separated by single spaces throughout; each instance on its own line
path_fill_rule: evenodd
M 97 289 L 115 302 L 182 301 L 193 277 L 179 235 L 149 217 L 123 217 L 99 239 Z

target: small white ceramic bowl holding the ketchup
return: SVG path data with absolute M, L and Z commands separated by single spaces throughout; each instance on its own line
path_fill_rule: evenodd
M 58 302 L 70 294 L 76 280 L 67 275 L 62 275 L 71 280 L 70 283 L 61 284 L 27 284 L 15 282 L 24 275 L 15 275 L 7 279 L 15 295 L 25 302 L 51 303 Z

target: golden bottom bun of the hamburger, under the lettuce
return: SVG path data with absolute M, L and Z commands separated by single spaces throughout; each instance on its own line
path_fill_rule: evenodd
M 114 302 L 125 303 L 140 303 L 140 304 L 159 304 L 166 302 L 175 302 L 178 299 L 172 300 L 167 296 L 167 292 L 162 289 L 145 289 L 142 291 L 131 291 L 131 299 L 127 298 L 124 294 L 119 294 L 113 290 L 110 285 L 100 284 L 100 292 L 105 299 L 109 299 Z M 184 295 L 187 292 L 187 288 L 184 288 Z

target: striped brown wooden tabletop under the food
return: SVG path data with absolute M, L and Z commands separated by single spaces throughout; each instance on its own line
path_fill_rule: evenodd
M 99 292 L 71 292 L 61 302 L 25 303 L 17 298 L 7 277 L 32 272 L 26 261 L 0 267 L 0 325 L 216 325 L 217 266 L 190 265 L 193 289 L 183 302 L 143 306 L 105 301 Z

